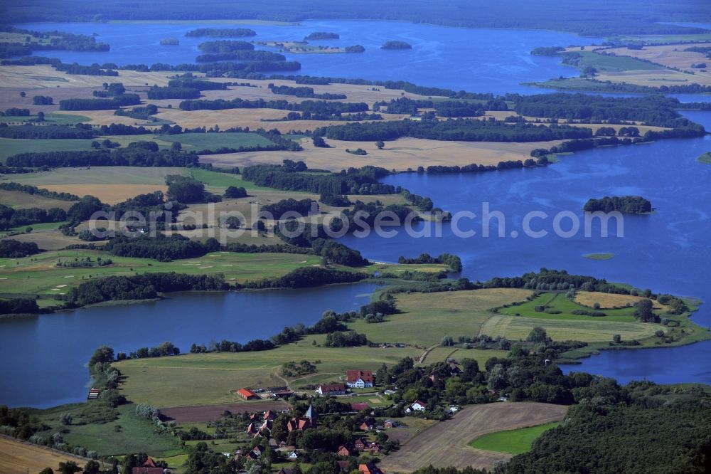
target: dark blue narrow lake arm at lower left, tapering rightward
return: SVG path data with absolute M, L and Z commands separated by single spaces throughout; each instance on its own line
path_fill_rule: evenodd
M 193 342 L 269 338 L 285 326 L 314 324 L 325 310 L 357 310 L 375 288 L 358 283 L 184 293 L 156 302 L 8 317 L 0 320 L 0 403 L 44 408 L 85 400 L 87 362 L 101 345 L 128 353 L 171 341 L 188 352 Z

